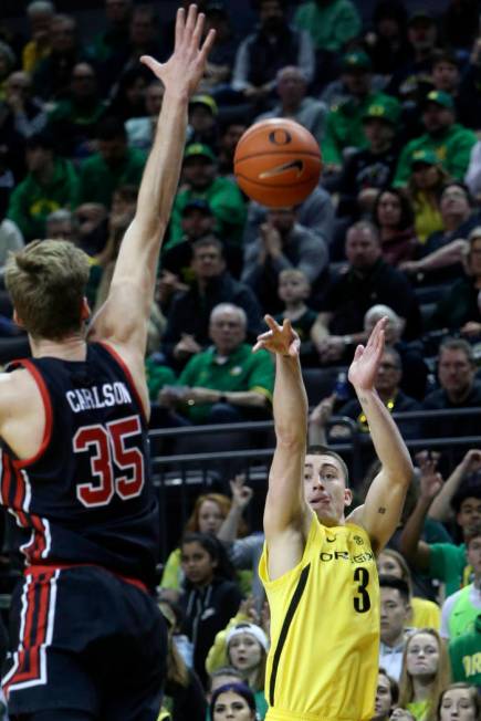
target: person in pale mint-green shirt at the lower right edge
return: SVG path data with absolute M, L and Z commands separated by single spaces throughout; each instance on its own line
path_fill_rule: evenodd
M 440 635 L 450 640 L 471 630 L 481 614 L 481 522 L 466 536 L 466 557 L 472 568 L 472 583 L 442 604 Z

